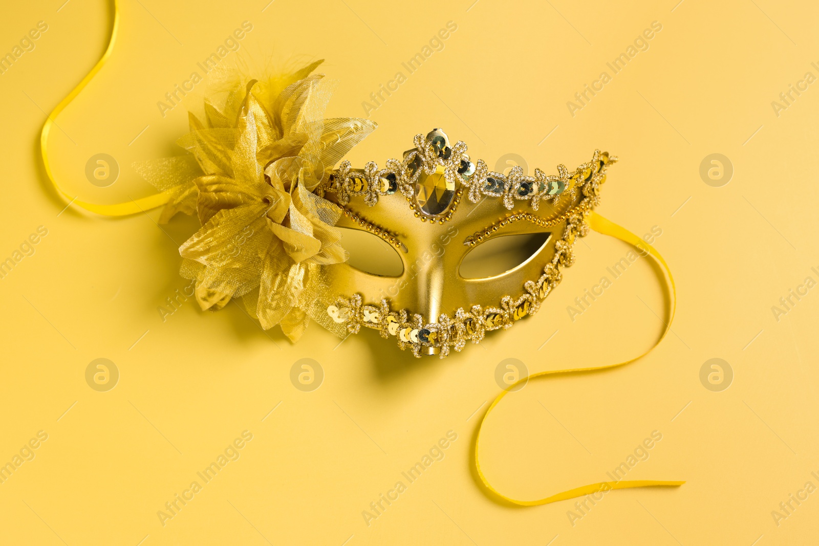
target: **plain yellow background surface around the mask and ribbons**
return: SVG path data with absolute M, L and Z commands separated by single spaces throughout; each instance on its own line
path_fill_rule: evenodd
M 38 156 L 46 112 L 106 47 L 111 6 L 5 7 L 0 52 L 39 20 L 48 31 L 0 75 L 0 259 L 38 226 L 48 236 L 0 280 L 0 463 L 38 431 L 48 440 L 0 484 L 0 543 L 815 540 L 819 493 L 778 526 L 771 511 L 805 482 L 819 485 L 811 476 L 819 474 L 819 291 L 778 321 L 771 306 L 806 277 L 819 280 L 811 270 L 819 268 L 817 83 L 778 116 L 771 102 L 806 72 L 819 76 L 811 65 L 819 61 L 819 8 L 675 3 L 124 0 L 111 61 L 52 133 L 55 174 L 67 192 L 106 203 L 146 196 L 152 188 L 128 165 L 179 153 L 173 142 L 199 99 L 186 97 L 165 118 L 156 102 L 242 21 L 253 29 L 231 56 L 257 67 L 324 57 L 324 72 L 341 82 L 328 115 L 355 116 L 402 61 L 454 21 L 444 49 L 371 113 L 380 129 L 353 151 L 354 164 L 382 163 L 438 126 L 490 165 L 515 153 L 549 173 L 559 163 L 573 169 L 600 147 L 621 159 L 600 213 L 638 235 L 662 228 L 655 246 L 677 280 L 673 333 L 647 358 L 613 372 L 533 381 L 487 422 L 487 475 L 527 499 L 606 480 L 652 431 L 663 434 L 628 478 L 686 485 L 614 491 L 574 525 L 567 515 L 574 501 L 514 508 L 484 494 L 471 472 L 473 434 L 482 404 L 499 391 L 502 360 L 520 359 L 530 372 L 592 366 L 653 343 L 663 296 L 647 262 L 572 321 L 567 306 L 628 250 L 592 234 L 540 314 L 446 360 L 413 359 L 372 331 L 339 345 L 315 325 L 292 345 L 235 305 L 211 314 L 188 300 L 163 322 L 157 308 L 187 283 L 176 249 L 194 223 L 175 219 L 163 232 L 157 210 L 125 219 L 63 211 Z M 606 62 L 655 20 L 663 28 L 649 49 L 572 116 L 566 103 L 574 93 L 604 70 L 612 75 Z M 85 162 L 100 152 L 122 169 L 111 187 L 84 177 Z M 699 176 L 712 153 L 733 165 L 725 186 Z M 119 369 L 113 390 L 86 383 L 97 358 Z M 292 385 L 291 367 L 302 358 L 324 369 L 318 390 Z M 722 392 L 699 380 L 712 358 L 734 372 Z M 245 430 L 253 440 L 241 457 L 162 526 L 156 512 Z M 450 430 L 458 440 L 446 457 L 367 526 L 361 512 Z

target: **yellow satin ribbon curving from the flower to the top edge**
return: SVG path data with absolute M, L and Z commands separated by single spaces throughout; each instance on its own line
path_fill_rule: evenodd
M 69 200 L 69 203 L 74 203 L 85 210 L 89 210 L 97 214 L 104 214 L 106 216 L 127 216 L 128 214 L 137 214 L 138 212 L 144 212 L 145 210 L 156 208 L 157 206 L 164 205 L 173 192 L 173 190 L 168 190 L 126 203 L 97 205 L 95 203 L 79 201 L 77 200 L 77 196 L 71 196 L 70 193 L 64 191 L 60 185 L 57 184 L 57 180 L 54 179 L 54 174 L 52 173 L 51 161 L 48 158 L 48 135 L 51 133 L 52 126 L 55 124 L 55 119 L 57 116 L 60 115 L 60 113 L 66 109 L 66 106 L 68 106 L 70 102 L 73 101 L 77 95 L 79 95 L 79 92 L 81 92 L 88 85 L 88 83 L 91 82 L 93 77 L 97 75 L 97 72 L 102 69 L 102 66 L 105 65 L 106 61 L 108 61 L 108 59 L 111 57 L 111 52 L 114 50 L 114 43 L 120 29 L 119 4 L 120 0 L 114 0 L 114 28 L 111 29 L 111 39 L 108 42 L 108 47 L 106 47 L 105 53 L 102 54 L 102 57 L 99 61 L 97 61 L 97 64 L 94 65 L 93 69 L 91 69 L 91 71 L 88 72 L 88 74 L 82 79 L 82 81 L 77 84 L 77 87 L 75 87 L 66 98 L 62 99 L 57 106 L 54 107 L 52 113 L 48 115 L 46 123 L 43 124 L 42 133 L 40 133 L 40 152 L 43 155 L 43 165 L 45 166 L 48 180 L 51 181 L 52 186 L 57 193 L 66 197 L 66 199 Z

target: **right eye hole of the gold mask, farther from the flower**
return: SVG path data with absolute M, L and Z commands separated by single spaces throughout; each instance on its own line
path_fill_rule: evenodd
M 464 256 L 460 276 L 489 278 L 507 273 L 536 255 L 551 237 L 549 232 L 491 237 Z

